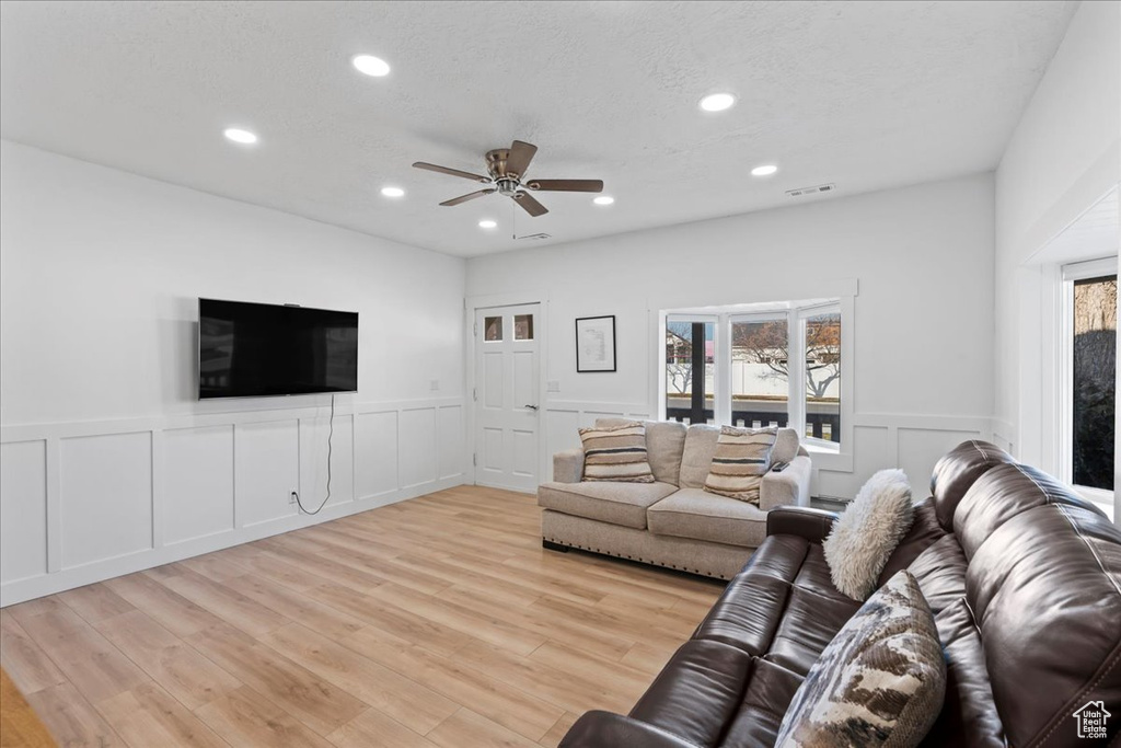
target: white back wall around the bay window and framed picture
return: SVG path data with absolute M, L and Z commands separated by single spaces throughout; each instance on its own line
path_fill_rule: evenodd
M 941 454 L 990 435 L 991 174 L 467 261 L 469 298 L 548 299 L 546 379 L 559 391 L 546 403 L 547 452 L 577 443 L 597 414 L 657 415 L 658 310 L 815 298 L 853 280 L 853 461 L 818 459 L 835 469 L 815 490 L 852 496 L 900 465 L 925 491 Z M 605 314 L 619 370 L 576 373 L 573 321 Z

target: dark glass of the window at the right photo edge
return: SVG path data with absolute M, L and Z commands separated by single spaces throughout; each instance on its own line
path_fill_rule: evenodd
M 1113 490 L 1118 277 L 1074 281 L 1072 474 Z

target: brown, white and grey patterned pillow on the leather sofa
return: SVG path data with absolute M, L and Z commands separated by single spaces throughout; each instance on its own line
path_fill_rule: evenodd
M 794 694 L 775 745 L 917 746 L 945 695 L 946 662 L 934 616 L 905 570 L 825 647 Z

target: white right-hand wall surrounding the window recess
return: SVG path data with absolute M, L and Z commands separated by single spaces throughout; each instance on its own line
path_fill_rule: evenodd
M 995 437 L 1049 472 L 1055 266 L 1041 250 L 1119 179 L 1121 3 L 1083 2 L 997 169 Z

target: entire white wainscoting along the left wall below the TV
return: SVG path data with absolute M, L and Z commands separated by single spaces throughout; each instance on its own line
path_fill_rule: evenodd
M 304 403 L 314 401 L 304 399 Z M 322 398 L 319 403 L 322 403 Z M 0 606 L 460 486 L 462 397 L 0 427 Z

